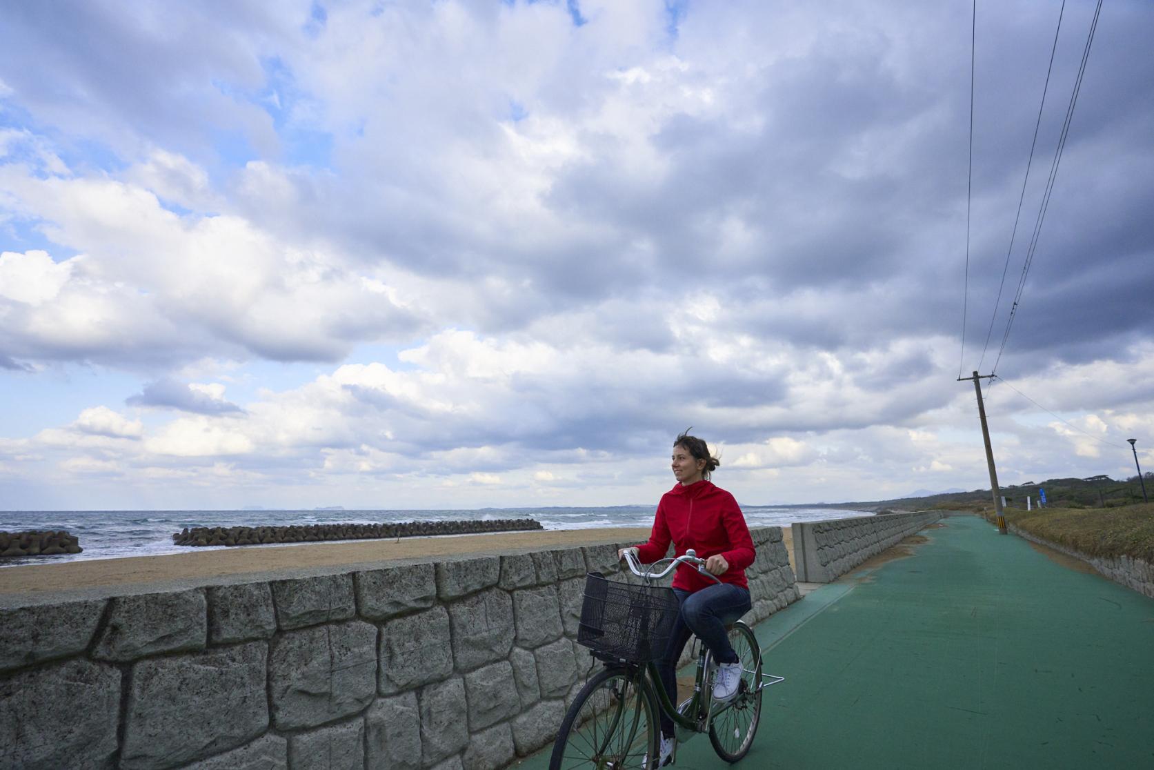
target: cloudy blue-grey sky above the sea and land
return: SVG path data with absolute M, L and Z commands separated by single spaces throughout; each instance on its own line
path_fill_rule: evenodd
M 995 361 L 1004 484 L 1154 470 L 1154 5 L 1001 358 L 1094 3 L 1040 124 L 1061 3 L 979 3 L 966 292 L 971 8 L 6 3 L 0 508 L 652 503 L 687 426 L 747 504 L 976 488 Z

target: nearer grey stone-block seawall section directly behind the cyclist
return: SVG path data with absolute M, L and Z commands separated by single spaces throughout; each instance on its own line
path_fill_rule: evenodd
M 752 536 L 756 622 L 799 593 L 781 530 Z M 503 767 L 587 678 L 584 576 L 621 578 L 616 547 L 0 608 L 0 769 Z

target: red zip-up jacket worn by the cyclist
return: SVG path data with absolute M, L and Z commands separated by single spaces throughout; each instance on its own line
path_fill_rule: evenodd
M 684 555 L 694 548 L 702 559 L 721 554 L 729 562 L 729 569 L 718 575 L 725 583 L 733 583 L 749 590 L 745 567 L 754 563 L 754 540 L 749 537 L 745 517 L 733 495 L 710 481 L 697 481 L 689 486 L 680 484 L 661 495 L 653 518 L 653 532 L 646 543 L 637 546 L 642 563 L 649 565 L 664 559 L 670 540 L 675 544 L 675 555 Z M 700 591 L 713 585 L 709 577 L 699 575 L 689 565 L 677 567 L 673 588 Z

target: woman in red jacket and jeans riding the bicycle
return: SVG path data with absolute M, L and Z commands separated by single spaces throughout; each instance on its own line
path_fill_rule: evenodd
M 673 580 L 673 590 L 681 603 L 681 613 L 669 636 L 669 646 L 658 661 L 661 683 L 673 703 L 677 702 L 676 666 L 690 634 L 696 634 L 718 661 L 713 687 L 714 701 L 728 701 L 739 689 L 742 666 L 726 635 L 726 623 L 749 612 L 749 583 L 745 568 L 754 563 L 754 540 L 737 501 L 725 489 L 710 483 L 712 471 L 720 465 L 709 447 L 688 431 L 673 442 L 673 476 L 677 484 L 661 496 L 650 539 L 632 548 L 642 563 L 664 559 L 672 541 L 676 555 L 687 548 L 705 559 L 705 569 L 721 583 L 699 575 L 681 565 Z M 673 719 L 661 713 L 661 760 L 667 764 L 673 755 Z

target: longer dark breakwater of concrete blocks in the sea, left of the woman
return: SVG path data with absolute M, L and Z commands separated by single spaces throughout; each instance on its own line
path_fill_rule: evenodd
M 394 524 L 307 524 L 302 526 L 186 526 L 172 536 L 175 545 L 262 545 L 271 543 L 319 543 L 322 540 L 361 540 L 432 534 L 474 534 L 480 532 L 515 532 L 539 530 L 532 518 L 496 518 L 490 521 L 399 522 Z

